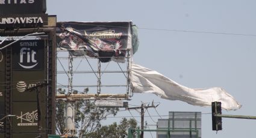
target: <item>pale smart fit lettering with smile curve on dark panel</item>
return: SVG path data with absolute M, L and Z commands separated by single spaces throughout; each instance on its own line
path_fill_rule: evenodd
M 36 51 L 34 51 L 32 48 L 37 47 L 37 41 L 34 42 L 20 42 L 20 61 L 19 65 L 22 68 L 30 69 L 36 67 L 38 64 L 35 55 Z M 26 65 L 25 65 L 26 64 Z

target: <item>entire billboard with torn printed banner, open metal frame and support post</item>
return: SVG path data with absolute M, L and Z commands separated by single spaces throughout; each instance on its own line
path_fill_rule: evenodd
M 130 22 L 126 23 L 130 25 Z M 83 28 L 87 26 L 83 24 Z M 63 25 L 57 29 L 56 88 L 61 94 L 57 94 L 56 99 L 66 101 L 64 134 L 67 136 L 76 135 L 77 100 L 123 101 L 133 96 L 130 89 L 131 48 L 125 46 L 129 43 L 127 36 L 131 32 L 128 28 L 124 29 L 128 32 L 123 33 L 125 38 L 121 38 L 122 42 L 122 33 L 114 29 L 96 30 L 91 34 L 86 34 L 84 30 L 83 34 L 81 29 L 63 28 Z

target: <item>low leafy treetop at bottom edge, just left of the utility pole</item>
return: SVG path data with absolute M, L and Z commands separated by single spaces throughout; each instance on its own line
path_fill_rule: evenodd
M 136 128 L 136 127 L 137 127 L 137 122 L 135 119 L 131 118 L 128 120 L 126 118 L 122 118 L 119 125 L 117 125 L 116 122 L 114 122 L 111 125 L 105 125 L 101 128 L 97 128 L 97 130 L 92 133 L 84 135 L 84 137 L 122 138 L 122 137 L 128 136 L 128 128 Z

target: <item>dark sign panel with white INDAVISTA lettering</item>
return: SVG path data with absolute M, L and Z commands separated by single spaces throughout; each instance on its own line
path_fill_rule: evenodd
M 36 28 L 48 25 L 48 14 L 13 14 L 0 16 L 0 29 Z

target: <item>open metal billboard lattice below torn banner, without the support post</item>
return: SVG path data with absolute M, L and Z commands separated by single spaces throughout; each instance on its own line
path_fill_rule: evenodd
M 98 58 L 90 58 L 87 56 L 75 57 L 70 55 L 70 53 L 65 50 L 57 50 L 56 57 L 58 67 L 58 81 L 56 88 L 66 88 L 67 94 L 69 94 L 59 94 L 57 95 L 57 98 L 69 97 L 75 99 L 83 97 L 88 100 L 95 100 L 101 98 L 128 100 L 129 97 L 132 96 L 132 92 L 130 89 L 131 55 L 129 54 L 129 52 L 125 56 L 125 63 L 121 64 L 113 61 L 102 64 Z M 75 70 L 73 68 L 75 68 Z M 102 70 L 102 68 L 104 68 L 104 70 Z M 117 68 L 118 70 L 111 70 L 112 68 Z M 106 82 L 106 79 L 109 79 L 107 77 L 111 74 L 114 74 L 114 77 L 121 78 L 123 80 L 122 83 L 116 84 L 120 82 L 120 79 L 116 79 L 116 82 L 112 81 L 113 83 L 108 84 Z M 81 79 L 82 76 L 84 77 Z M 80 77 L 80 80 L 76 79 L 77 77 Z M 110 79 L 115 79 L 114 77 Z M 87 79 L 90 79 L 90 81 L 88 81 Z M 84 93 L 84 88 L 88 88 L 90 91 Z M 122 89 L 122 91 L 119 90 L 119 92 L 116 92 L 115 90 L 110 90 L 113 92 L 111 93 L 104 88 Z M 78 91 L 78 93 L 84 94 L 73 94 L 74 91 Z

